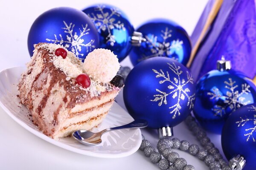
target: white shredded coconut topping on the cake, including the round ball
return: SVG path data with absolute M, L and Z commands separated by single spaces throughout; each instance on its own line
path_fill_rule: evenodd
M 90 96 L 92 97 L 99 96 L 101 92 L 106 90 L 107 91 L 111 90 L 110 87 L 101 85 L 100 83 L 104 81 L 110 82 L 111 79 L 113 79 L 113 77 L 116 75 L 120 67 L 117 57 L 110 50 L 105 50 L 105 49 L 94 50 L 93 51 L 94 53 L 92 54 L 93 57 L 89 57 L 90 59 L 87 60 L 87 66 L 86 66 L 86 68 L 93 68 L 93 69 L 89 69 L 92 72 L 86 72 L 86 70 L 84 69 L 85 67 L 81 62 L 81 60 L 79 60 L 75 56 L 75 54 L 68 51 L 62 45 L 44 43 L 39 45 L 38 48 L 47 48 L 47 50 L 49 50 L 49 53 L 51 53 L 49 55 L 52 56 L 50 57 L 51 58 L 50 61 L 55 65 L 56 68 L 59 68 L 61 71 L 64 72 L 64 74 L 67 75 L 67 78 L 66 78 L 67 81 L 70 81 L 72 78 L 76 78 L 79 74 L 83 74 L 83 73 L 88 74 L 91 77 L 91 84 L 89 88 L 82 88 L 78 84 L 76 84 L 75 86 L 79 87 L 83 91 L 86 91 L 87 93 L 90 94 Z M 61 56 L 55 55 L 55 50 L 57 48 L 64 48 L 67 51 L 67 57 L 65 59 L 63 59 Z M 105 74 L 103 74 L 103 72 Z M 106 74 L 108 72 L 111 72 L 111 77 L 108 74 Z M 103 77 L 103 79 L 96 79 L 97 74 L 105 75 L 105 76 Z M 71 88 L 72 89 L 70 89 L 70 91 L 75 91 L 75 87 L 72 86 Z

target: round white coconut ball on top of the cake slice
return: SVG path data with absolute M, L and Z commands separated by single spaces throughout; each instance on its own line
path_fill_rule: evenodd
M 118 58 L 107 49 L 98 48 L 90 52 L 84 59 L 84 70 L 99 82 L 110 82 L 120 68 Z

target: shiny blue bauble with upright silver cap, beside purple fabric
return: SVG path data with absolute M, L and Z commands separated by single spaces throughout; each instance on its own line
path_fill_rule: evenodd
M 256 102 L 256 87 L 241 73 L 230 70 L 230 61 L 218 60 L 217 68 L 198 81 L 193 112 L 202 127 L 220 134 L 230 113 Z

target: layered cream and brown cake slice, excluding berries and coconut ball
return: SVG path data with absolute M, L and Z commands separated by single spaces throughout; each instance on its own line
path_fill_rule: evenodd
M 58 138 L 72 130 L 89 130 L 102 121 L 120 88 L 91 79 L 90 87 L 76 83 L 77 74 L 85 73 L 75 55 L 56 57 L 60 45 L 40 43 L 19 83 L 21 102 L 32 113 L 35 125 L 46 135 Z

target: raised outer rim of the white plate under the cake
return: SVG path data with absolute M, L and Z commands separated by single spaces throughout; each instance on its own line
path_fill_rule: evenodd
M 15 67 L 10 67 L 10 68 L 6 68 L 0 71 L 0 74 L 3 74 L 3 72 L 5 71 L 9 71 L 15 68 L 25 68 L 23 66 L 15 66 Z M 114 102 L 116 103 L 116 102 Z M 116 103 L 116 105 L 118 105 Z M 120 105 L 118 105 L 120 108 L 122 108 Z M 58 140 L 52 139 L 49 136 L 46 136 L 44 133 L 41 133 L 35 129 L 33 129 L 32 127 L 29 127 L 29 125 L 27 125 L 25 122 L 21 121 L 20 119 L 18 119 L 13 113 L 11 113 L 11 111 L 6 108 L 6 106 L 2 103 L 2 101 L 0 100 L 0 107 L 3 108 L 3 111 L 5 111 L 16 123 L 18 123 L 20 126 L 22 126 L 23 128 L 25 128 L 26 130 L 28 130 L 30 133 L 34 134 L 35 136 L 38 136 L 39 138 L 43 139 L 44 141 L 47 141 L 57 147 L 61 147 L 65 150 L 69 150 L 71 152 L 75 152 L 75 153 L 79 153 L 82 155 L 86 155 L 86 156 L 93 156 L 93 157 L 98 157 L 98 158 L 122 158 L 125 156 L 130 156 L 131 154 L 135 153 L 139 148 L 140 148 L 140 142 L 137 142 L 137 145 L 135 145 L 134 147 L 132 147 L 131 150 L 125 152 L 125 153 L 119 153 L 119 154 L 109 154 L 109 153 L 94 153 L 93 151 L 90 150 L 81 150 L 78 149 L 76 147 L 72 147 L 68 144 L 64 144 Z M 124 110 L 122 108 L 122 110 Z M 125 110 L 124 110 L 125 111 Z M 126 111 L 125 111 L 126 112 Z M 129 113 L 128 113 L 129 114 Z M 131 129 L 132 130 L 132 129 Z M 134 131 L 137 130 L 138 131 L 138 136 L 140 139 L 142 139 L 141 137 L 141 130 L 140 128 L 137 129 L 133 129 Z M 93 147 L 93 146 L 92 146 Z

